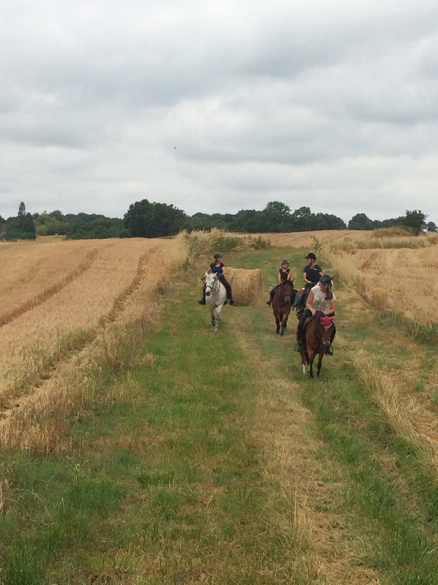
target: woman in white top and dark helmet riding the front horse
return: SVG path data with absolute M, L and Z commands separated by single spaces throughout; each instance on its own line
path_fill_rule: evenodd
M 297 328 L 297 345 L 295 346 L 296 352 L 303 350 L 303 335 L 304 335 L 304 324 L 308 316 L 315 315 L 317 311 L 322 311 L 324 315 L 332 317 L 335 315 L 336 309 L 336 297 L 332 291 L 331 285 L 332 277 L 329 274 L 323 274 L 319 283 L 311 288 L 309 296 L 305 304 L 305 311 L 301 315 L 300 322 Z M 333 355 L 333 339 L 335 339 L 336 327 L 332 322 L 332 335 L 330 338 L 330 346 L 325 351 L 326 356 Z

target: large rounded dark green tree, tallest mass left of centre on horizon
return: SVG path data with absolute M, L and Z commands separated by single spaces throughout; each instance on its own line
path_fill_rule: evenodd
M 159 238 L 178 233 L 186 219 L 182 209 L 142 199 L 129 206 L 124 215 L 124 224 L 131 235 L 137 238 Z

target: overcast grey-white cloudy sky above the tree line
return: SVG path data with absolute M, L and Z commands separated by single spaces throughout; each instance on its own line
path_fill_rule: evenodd
M 0 214 L 438 223 L 438 2 L 0 0 Z

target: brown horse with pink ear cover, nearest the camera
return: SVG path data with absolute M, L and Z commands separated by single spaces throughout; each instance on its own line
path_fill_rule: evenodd
M 319 355 L 317 366 L 317 378 L 321 371 L 322 358 L 325 350 L 330 345 L 332 335 L 332 317 L 327 317 L 322 311 L 317 311 L 314 316 L 308 317 L 304 325 L 304 342 L 303 351 L 301 352 L 301 363 L 303 364 L 303 374 L 305 374 L 305 364 L 309 364 L 309 377 L 313 378 L 313 362 L 316 355 Z

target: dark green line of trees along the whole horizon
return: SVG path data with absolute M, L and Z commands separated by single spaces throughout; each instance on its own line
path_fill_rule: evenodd
M 123 219 L 98 214 L 62 214 L 55 211 L 30 214 L 21 202 L 18 215 L 3 219 L 0 215 L 0 238 L 5 240 L 34 239 L 36 236 L 64 235 L 67 239 L 158 238 L 172 236 L 186 229 L 210 230 L 220 228 L 230 232 L 268 233 L 304 232 L 322 229 L 377 229 L 405 226 L 412 233 L 423 230 L 436 232 L 433 222 L 426 223 L 422 211 L 406 210 L 404 216 L 371 220 L 356 214 L 348 225 L 333 214 L 313 213 L 309 207 L 291 211 L 281 201 L 270 201 L 265 209 L 241 209 L 237 214 L 203 214 L 188 216 L 182 209 L 165 203 L 136 201 L 129 206 Z

